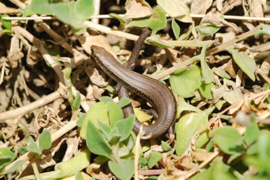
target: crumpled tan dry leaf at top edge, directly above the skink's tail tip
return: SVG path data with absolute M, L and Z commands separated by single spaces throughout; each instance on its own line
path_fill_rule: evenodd
M 151 6 L 145 0 L 127 0 L 125 3 L 126 13 L 124 18 L 140 18 L 152 14 Z

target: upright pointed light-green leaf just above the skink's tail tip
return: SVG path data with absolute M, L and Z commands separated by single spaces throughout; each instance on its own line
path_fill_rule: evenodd
M 149 20 L 149 27 L 152 29 L 151 36 L 155 35 L 158 30 L 165 28 L 166 24 L 166 14 L 164 10 L 159 5 L 157 5 Z

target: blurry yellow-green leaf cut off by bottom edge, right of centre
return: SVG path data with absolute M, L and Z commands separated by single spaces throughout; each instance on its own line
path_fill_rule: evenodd
M 236 180 L 237 178 L 229 170 L 229 166 L 225 165 L 222 161 L 214 161 L 208 169 L 197 173 L 190 180 Z

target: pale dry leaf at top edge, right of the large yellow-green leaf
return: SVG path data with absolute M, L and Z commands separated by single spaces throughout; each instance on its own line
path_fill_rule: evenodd
M 193 0 L 190 6 L 190 12 L 193 14 L 205 14 L 212 5 L 213 0 Z

